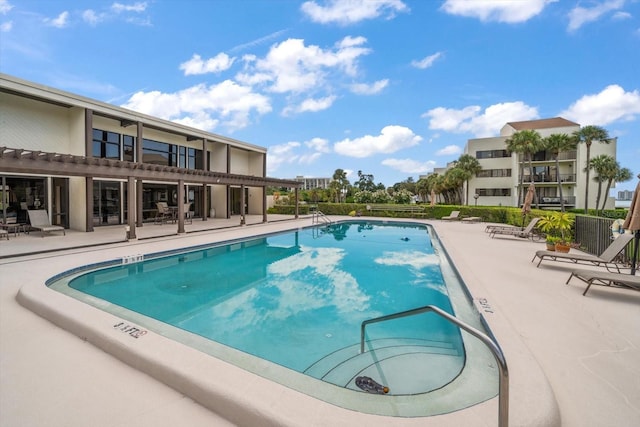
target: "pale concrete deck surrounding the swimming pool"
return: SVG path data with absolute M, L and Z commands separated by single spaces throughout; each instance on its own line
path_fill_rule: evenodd
M 235 220 L 223 221 L 194 221 L 186 226 L 189 233 L 180 236 L 175 235 L 175 227 L 145 225 L 138 229 L 141 240 L 130 242 L 124 241 L 122 226 L 94 233 L 68 232 L 67 236 L 44 238 L 21 235 L 1 241 L 0 425 L 277 425 L 271 420 L 289 425 L 305 420 L 297 425 L 313 426 L 497 425 L 497 399 L 444 416 L 374 417 L 314 402 L 282 386 L 263 390 L 266 380 L 261 377 L 224 364 L 217 365 L 218 371 L 209 371 L 213 365 L 202 359 L 211 358 L 196 355 L 197 360 L 191 360 L 196 374 L 210 377 L 211 382 L 244 381 L 240 389 L 230 390 L 238 405 L 220 412 L 225 418 L 131 367 L 136 366 L 135 360 L 128 360 L 127 365 L 113 357 L 110 353 L 119 355 L 135 341 L 126 334 L 110 337 L 105 345 L 111 348 L 105 352 L 92 344 L 93 338 L 83 340 L 60 329 L 16 301 L 24 286 L 45 292 L 53 303 L 73 314 L 84 315 L 86 310 L 87 318 L 94 317 L 93 311 L 98 310 L 67 301 L 70 299 L 44 288 L 44 281 L 76 266 L 123 255 L 311 224 L 310 218 L 267 224 L 255 224 L 260 221 L 248 218 L 247 222 L 255 225 L 244 227 L 237 227 Z M 216 230 L 204 230 L 214 223 Z M 542 243 L 491 239 L 483 232 L 482 223 L 430 223 L 505 352 L 510 370 L 510 425 L 560 425 L 558 416 L 561 425 L 570 427 L 640 424 L 640 292 L 592 287 L 583 297 L 581 282 L 564 284 L 571 265 L 547 263 L 536 268 L 530 262 Z M 97 246 L 61 250 L 85 245 Z M 15 256 L 48 249 L 52 252 Z M 105 324 L 111 319 L 113 316 L 105 319 Z M 60 317 L 55 320 L 66 321 Z M 113 328 L 106 329 L 106 333 L 115 334 Z M 144 341 L 148 350 L 174 357 L 182 351 L 153 334 Z M 163 369 L 161 361 L 154 367 Z M 253 403 L 255 410 L 248 413 L 246 406 Z M 261 417 L 269 422 L 256 423 Z

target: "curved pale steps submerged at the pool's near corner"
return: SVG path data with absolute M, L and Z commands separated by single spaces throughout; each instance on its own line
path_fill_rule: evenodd
M 449 343 L 418 339 L 385 339 L 368 343 L 373 350 L 360 354 L 360 346 L 338 350 L 311 365 L 305 374 L 340 387 L 360 390 L 361 375 L 388 385 L 391 394 L 426 393 L 453 380 L 464 359 Z

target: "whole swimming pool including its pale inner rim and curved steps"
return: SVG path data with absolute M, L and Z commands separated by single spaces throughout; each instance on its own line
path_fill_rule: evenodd
M 370 327 L 369 351 L 358 351 L 360 322 L 426 304 L 482 329 L 433 236 L 344 222 L 146 255 L 51 287 L 330 403 L 433 415 L 496 395 L 488 351 L 429 314 Z M 354 380 L 365 374 L 389 386 L 385 405 L 363 398 Z

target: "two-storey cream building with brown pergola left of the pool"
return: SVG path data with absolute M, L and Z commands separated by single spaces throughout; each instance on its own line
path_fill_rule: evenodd
M 157 202 L 196 218 L 263 215 L 266 148 L 0 74 L 0 221 L 80 231 L 153 220 Z M 296 198 L 297 199 L 297 198 Z

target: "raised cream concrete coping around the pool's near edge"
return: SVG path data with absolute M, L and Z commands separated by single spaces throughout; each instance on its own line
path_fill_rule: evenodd
M 403 222 L 407 222 L 407 220 L 403 219 Z M 422 221 L 411 222 L 426 223 Z M 287 228 L 296 229 L 300 227 L 291 226 Z M 443 244 L 446 246 L 445 243 Z M 460 272 L 460 274 L 464 278 L 464 272 Z M 474 290 L 470 289 L 470 292 L 473 294 Z M 370 417 L 378 421 L 383 418 L 394 425 L 400 423 L 398 418 L 395 417 L 369 415 L 328 404 L 286 386 L 273 383 L 222 360 L 201 354 L 197 350 L 189 349 L 160 335 L 149 334 L 138 341 L 113 328 L 114 322 L 120 320 L 116 316 L 59 294 L 48 289 L 43 283 L 24 285 L 18 292 L 16 299 L 22 306 L 34 311 L 41 317 L 103 349 L 124 363 L 192 397 L 224 418 L 241 425 L 260 422 L 261 425 L 294 426 L 300 425 L 302 421 L 309 423 L 311 420 L 316 419 L 314 416 L 322 417 L 324 422 L 331 420 L 332 425 L 350 425 L 353 422 L 362 422 L 363 418 L 369 419 Z M 478 300 L 473 298 L 473 302 L 479 312 L 482 313 L 482 305 L 478 305 Z M 527 396 L 536 396 L 534 400 L 528 402 L 528 405 L 526 405 L 527 410 L 523 413 L 514 411 L 516 402 L 512 399 L 510 417 L 513 420 L 512 424 L 531 426 L 559 425 L 560 417 L 555 397 L 537 361 L 535 361 L 515 331 L 511 329 L 509 332 L 508 322 L 505 319 L 500 319 L 501 316 L 499 314 L 493 313 L 488 318 L 487 316 L 483 317 L 485 317 L 489 327 L 498 338 L 503 334 L 512 335 L 508 339 L 517 343 L 516 346 L 511 345 L 511 343 L 510 345 L 504 345 L 504 342 L 501 343 L 512 372 L 519 372 L 521 365 L 527 365 L 527 369 L 530 370 L 533 364 L 533 370 L 540 374 L 536 375 L 535 384 L 532 384 L 531 381 L 522 382 L 517 375 L 511 376 L 512 391 L 514 388 L 516 390 L 522 388 L 528 391 Z M 101 328 L 104 327 L 104 330 L 97 330 L 95 327 L 87 326 L 86 323 L 89 321 L 92 324 L 94 322 L 99 323 L 102 325 Z M 141 342 L 144 342 L 145 345 L 139 345 Z M 166 349 L 172 350 L 170 354 L 171 360 L 169 361 L 161 360 L 158 357 L 159 353 L 163 353 Z M 518 360 L 515 358 L 516 355 Z M 176 372 L 175 365 L 179 366 L 180 362 L 184 362 L 186 357 L 189 357 L 189 360 L 195 365 L 191 367 L 182 366 L 180 372 Z M 167 354 L 163 354 L 162 358 L 166 359 Z M 240 378 L 245 382 L 238 385 L 238 387 L 230 387 L 219 381 L 207 380 L 196 368 L 216 368 L 216 371 L 224 372 L 227 375 L 232 374 L 233 380 Z M 532 372 L 528 371 L 527 377 L 530 378 L 532 374 Z M 517 387 L 514 387 L 514 381 Z M 266 388 L 271 389 L 272 392 L 264 393 L 262 390 Z M 537 391 L 532 394 L 532 390 Z M 516 394 L 512 393 L 511 395 L 514 396 Z M 274 401 L 274 397 L 283 398 L 284 402 L 287 403 L 286 406 L 279 406 L 283 404 L 283 400 Z M 284 410 L 285 408 L 286 410 Z M 279 411 L 278 409 L 282 410 Z M 292 412 L 297 413 L 300 411 L 302 413 L 298 414 L 298 416 L 293 416 Z M 310 414 L 308 411 L 312 413 Z M 497 419 L 497 398 L 455 413 L 430 417 L 402 418 L 401 420 L 403 425 L 413 425 L 414 422 L 416 425 L 430 425 L 432 421 L 435 423 L 434 425 L 440 426 L 448 425 L 449 420 L 451 425 L 460 425 L 461 423 L 469 423 L 472 419 L 477 421 L 478 417 L 486 420 Z

